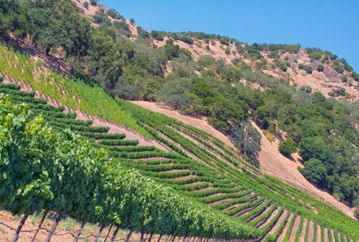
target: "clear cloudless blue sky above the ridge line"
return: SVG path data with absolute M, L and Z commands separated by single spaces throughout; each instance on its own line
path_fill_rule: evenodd
M 329 50 L 359 72 L 359 1 L 100 0 L 146 30 Z

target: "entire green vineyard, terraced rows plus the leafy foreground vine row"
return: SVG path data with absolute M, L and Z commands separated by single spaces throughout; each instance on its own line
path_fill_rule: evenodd
M 119 229 L 173 240 L 359 240 L 357 221 L 262 173 L 212 135 L 54 73 L 5 44 L 0 52 L 1 207 L 25 219 L 56 212 L 49 238 L 66 214 L 81 226 L 98 224 L 99 233 L 112 224 L 113 240 Z M 76 119 L 76 110 L 166 149 Z

